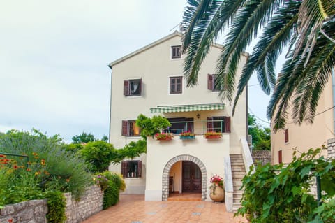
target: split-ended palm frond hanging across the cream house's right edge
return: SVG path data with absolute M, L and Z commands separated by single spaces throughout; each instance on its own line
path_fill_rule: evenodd
M 278 55 L 290 41 L 292 33 L 296 29 L 297 13 L 300 1 L 287 1 L 271 17 L 269 24 L 260 37 L 260 41 L 253 48 L 253 53 L 244 66 L 237 86 L 237 94 L 234 99 L 232 113 L 234 114 L 239 96 L 248 84 L 248 80 L 254 71 L 258 72 L 260 86 L 266 94 L 269 94 L 269 86 L 274 88 L 276 75 L 274 67 Z M 268 82 L 264 83 L 264 82 Z

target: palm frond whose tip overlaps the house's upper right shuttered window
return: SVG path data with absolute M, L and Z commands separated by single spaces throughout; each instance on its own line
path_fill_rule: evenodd
M 224 96 L 227 96 L 229 101 L 232 101 L 234 94 L 234 74 L 241 53 L 251 43 L 253 37 L 257 36 L 259 29 L 266 24 L 281 3 L 282 1 L 274 0 L 247 1 L 243 8 L 239 10 L 237 16 L 234 17 L 232 28 L 225 41 L 217 66 L 218 75 L 225 77 L 227 89 Z

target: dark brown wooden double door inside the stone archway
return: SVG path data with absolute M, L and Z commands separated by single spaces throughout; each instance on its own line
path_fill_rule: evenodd
M 183 161 L 182 185 L 184 192 L 201 192 L 201 171 L 197 164 Z

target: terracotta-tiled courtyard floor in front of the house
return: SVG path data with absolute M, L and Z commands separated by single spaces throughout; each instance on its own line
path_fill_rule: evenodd
M 225 211 L 224 203 L 207 201 L 144 201 L 144 195 L 120 195 L 116 206 L 84 223 L 247 222 Z

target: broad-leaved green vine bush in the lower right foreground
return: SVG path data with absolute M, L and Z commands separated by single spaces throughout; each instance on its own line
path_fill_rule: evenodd
M 311 149 L 294 157 L 287 167 L 266 164 L 251 169 L 243 179 L 242 207 L 237 214 L 249 215 L 251 222 L 334 221 L 334 201 L 326 202 L 334 196 L 335 161 L 317 158 L 319 154 L 320 149 Z M 317 201 L 309 192 L 311 180 L 317 175 L 324 185 L 322 208 L 317 208 Z

